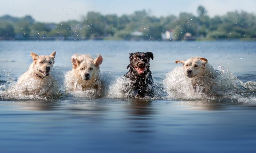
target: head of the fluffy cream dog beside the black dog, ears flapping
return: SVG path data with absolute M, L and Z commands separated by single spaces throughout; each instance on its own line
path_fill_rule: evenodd
M 98 55 L 95 60 L 88 54 L 74 54 L 71 57 L 75 75 L 85 81 L 91 80 L 99 75 L 99 68 L 102 61 L 103 58 L 101 55 Z

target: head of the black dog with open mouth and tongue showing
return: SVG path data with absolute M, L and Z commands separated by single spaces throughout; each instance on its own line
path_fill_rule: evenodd
M 135 52 L 130 54 L 130 70 L 136 72 L 138 75 L 146 75 L 149 72 L 149 59 L 154 59 L 153 53 L 151 52 Z

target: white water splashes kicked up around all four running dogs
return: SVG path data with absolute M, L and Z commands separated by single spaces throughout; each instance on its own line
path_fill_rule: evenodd
M 210 93 L 204 92 L 204 87 L 196 86 L 194 91 L 190 78 L 184 73 L 182 66 L 175 67 L 171 72 L 166 74 L 166 79 L 163 85 L 157 84 L 152 87 L 155 91 L 155 96 L 150 99 L 175 99 L 175 100 L 193 100 L 193 99 L 234 99 L 238 102 L 256 102 L 256 81 L 248 81 L 243 83 L 222 65 L 219 65 L 215 70 L 216 77 L 214 78 L 214 85 Z M 56 79 L 56 86 L 58 86 L 60 95 L 64 97 L 76 98 L 129 98 L 127 92 L 123 92 L 130 83 L 129 79 L 124 76 L 115 78 L 110 72 L 100 72 L 99 81 L 101 86 L 101 96 L 99 96 L 96 89 L 88 89 L 83 91 L 79 88 L 74 92 L 67 92 L 66 88 L 72 80 L 70 72 L 63 72 L 60 68 L 54 67 L 52 76 Z M 65 73 L 65 75 L 64 75 Z M 65 80 L 68 78 L 68 81 Z M 26 93 L 27 89 L 34 89 L 40 87 L 38 93 Z M 0 82 L 0 99 L 59 99 L 58 96 L 46 96 L 45 92 L 49 90 L 47 84 L 34 78 L 29 78 L 24 84 L 18 85 L 16 81 L 1 81 Z M 148 99 L 149 97 L 146 97 Z

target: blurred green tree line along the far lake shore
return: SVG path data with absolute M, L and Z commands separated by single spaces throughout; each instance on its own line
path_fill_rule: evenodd
M 184 39 L 190 33 L 198 39 L 242 38 L 255 40 L 256 16 L 244 11 L 228 12 L 209 17 L 203 6 L 197 15 L 180 13 L 156 17 L 146 10 L 129 15 L 102 15 L 88 12 L 82 21 L 61 23 L 36 22 L 31 16 L 0 17 L 0 40 L 18 39 L 144 39 L 161 40 L 161 33 L 170 31 L 175 40 Z M 137 32 L 137 35 L 133 33 Z

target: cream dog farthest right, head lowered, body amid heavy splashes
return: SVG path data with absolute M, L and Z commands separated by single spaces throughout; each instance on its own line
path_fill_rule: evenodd
M 188 60 L 177 60 L 175 63 L 182 63 L 185 75 L 191 78 L 193 88 L 203 86 L 204 91 L 208 93 L 214 85 L 215 70 L 204 57 L 192 57 Z

